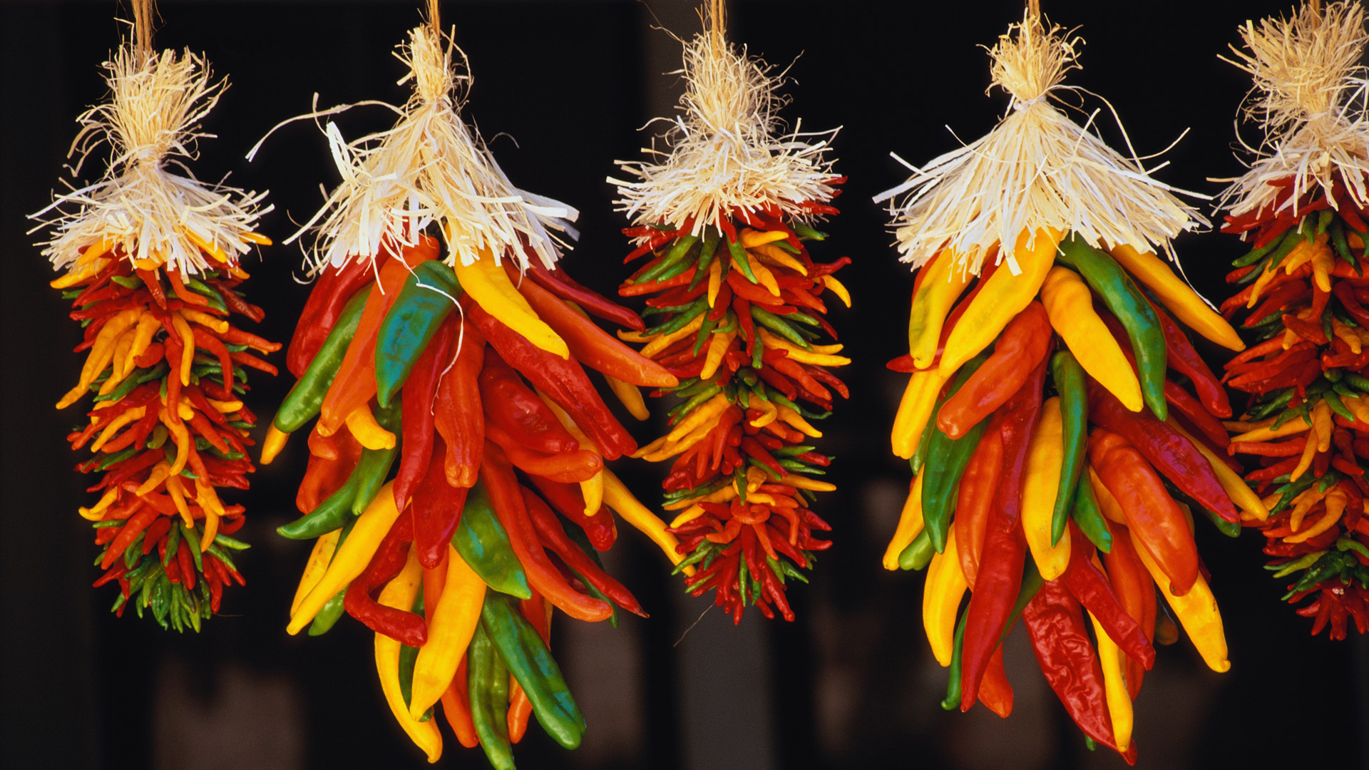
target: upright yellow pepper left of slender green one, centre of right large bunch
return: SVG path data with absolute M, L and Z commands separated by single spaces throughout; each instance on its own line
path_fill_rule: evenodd
M 1065 462 L 1065 427 L 1060 414 L 1060 396 L 1046 399 L 1040 419 L 1027 449 L 1023 475 L 1023 534 L 1043 580 L 1055 580 L 1069 566 L 1069 529 L 1060 543 L 1050 544 L 1050 519 L 1055 510 L 1060 470 Z

